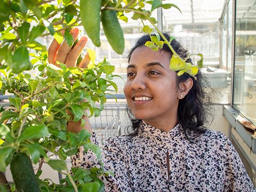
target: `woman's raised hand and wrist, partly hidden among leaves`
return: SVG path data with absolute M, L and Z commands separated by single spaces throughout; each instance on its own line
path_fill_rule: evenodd
M 61 33 L 63 35 L 63 32 Z M 70 34 L 73 36 L 74 40 L 78 37 L 79 29 L 73 28 L 70 31 Z M 86 46 L 86 43 L 88 41 L 88 36 L 83 35 L 81 39 L 77 42 L 76 46 L 71 50 L 71 47 L 68 46 L 66 41 L 63 41 L 63 43 L 60 45 L 58 42 L 54 39 L 52 41 L 52 44 L 49 47 L 48 50 L 48 61 L 49 63 L 54 64 L 55 66 L 60 66 L 56 63 L 57 61 L 65 63 L 67 67 L 75 67 L 77 58 L 79 57 L 80 53 L 82 52 L 82 49 Z M 79 68 L 87 68 L 89 62 L 90 62 L 89 54 L 87 53 L 82 62 L 79 65 Z M 70 111 L 66 110 L 66 112 L 69 115 L 72 115 Z M 86 111 L 87 112 L 87 111 Z M 86 124 L 84 126 L 81 125 L 81 121 L 74 122 L 69 121 L 67 124 L 67 131 L 68 132 L 74 132 L 79 133 L 82 129 L 86 129 L 90 133 L 92 133 L 91 125 L 89 123 L 89 119 L 83 115 L 82 118 L 86 120 Z

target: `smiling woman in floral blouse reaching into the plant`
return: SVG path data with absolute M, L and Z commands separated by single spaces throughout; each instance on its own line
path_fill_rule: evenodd
M 76 38 L 77 29 L 71 34 Z M 60 59 L 68 67 L 75 66 L 87 37 L 81 39 L 72 51 L 54 41 L 49 62 Z M 200 72 L 197 80 L 187 74 L 178 77 L 169 70 L 172 52 L 168 47 L 153 51 L 144 46 L 147 40 L 148 35 L 141 37 L 131 50 L 124 85 L 134 132 L 110 138 L 103 147 L 104 167 L 115 172 L 115 177 L 101 178 L 105 191 L 255 191 L 227 137 L 204 128 L 207 108 Z M 172 46 L 186 58 L 187 52 L 176 40 Z M 81 65 L 88 62 L 86 56 Z M 92 133 L 88 123 L 84 127 L 68 124 L 68 131 L 81 129 Z M 96 134 L 90 139 L 97 143 Z M 72 164 L 100 167 L 95 155 L 84 154 L 82 147 Z

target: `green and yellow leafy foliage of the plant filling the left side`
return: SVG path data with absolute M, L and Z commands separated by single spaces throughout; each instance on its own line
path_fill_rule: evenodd
M 92 60 L 88 69 L 67 68 L 63 63 L 59 63 L 61 68 L 57 68 L 48 62 L 46 47 L 36 39 L 52 35 L 59 44 L 65 39 L 72 46 L 74 39 L 70 29 L 83 25 L 94 44 L 100 46 L 98 26 L 103 22 L 102 25 L 107 26 L 104 32 L 110 34 L 106 35 L 108 41 L 121 54 L 124 38 L 116 18 L 127 22 L 125 14 L 133 12 L 133 19 L 149 20 L 155 26 L 157 21 L 151 17 L 152 11 L 158 7 L 179 9 L 160 0 L 101 0 L 93 1 L 90 9 L 82 9 L 84 5 L 91 5 L 89 1 L 80 0 L 78 4 L 76 0 L 0 0 L 0 72 L 4 75 L 4 78 L 0 77 L 0 89 L 3 94 L 8 92 L 15 96 L 9 97 L 9 105 L 0 107 L 0 171 L 6 170 L 15 154 L 27 154 L 33 163 L 39 163 L 36 175 L 31 177 L 37 178 L 42 191 L 103 191 L 103 183 L 97 177 L 113 174 L 110 170 L 105 171 L 103 166 L 91 170 L 72 168 L 73 175 L 69 173 L 65 159 L 76 154 L 80 146 L 85 151 L 92 150 L 98 158 L 100 150 L 90 142 L 89 132 L 83 130 L 74 134 L 67 132 L 66 126 L 70 120 L 81 121 L 83 126 L 85 121 L 82 116 L 88 116 L 87 109 L 90 117 L 99 116 L 106 102 L 105 92 L 110 87 L 117 92 L 117 86 L 112 81 L 114 66 L 106 59 L 95 62 L 93 50 L 87 49 Z M 149 10 L 145 9 L 146 4 L 150 5 Z M 104 14 L 107 19 L 100 18 Z M 90 20 L 95 20 L 96 24 L 90 23 Z M 94 28 L 97 28 L 96 33 L 92 32 Z M 118 31 L 115 31 L 117 28 Z M 148 34 L 154 32 L 148 26 L 144 26 L 143 31 Z M 161 31 L 156 28 L 156 32 L 146 46 L 156 51 L 165 43 L 173 50 Z M 160 36 L 165 41 L 160 41 Z M 178 75 L 184 72 L 196 75 L 197 67 L 180 58 L 174 50 L 173 53 L 170 69 L 179 70 Z M 202 59 L 198 66 L 202 66 Z M 41 73 L 37 76 L 24 73 L 33 68 Z M 96 102 L 100 103 L 99 108 Z M 57 155 L 59 160 L 50 160 L 49 153 Z M 63 174 L 67 177 L 62 180 L 66 184 L 41 180 L 42 163 L 61 173 L 66 170 L 67 173 Z M 2 185 L 0 189 L 7 190 Z M 15 184 L 12 184 L 11 190 L 14 189 Z

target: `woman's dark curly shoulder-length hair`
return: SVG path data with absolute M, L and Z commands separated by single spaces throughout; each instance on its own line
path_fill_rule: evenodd
M 155 34 L 152 34 L 155 35 Z M 166 37 L 166 39 L 169 41 L 171 35 L 169 33 L 163 33 L 163 35 Z M 131 55 L 134 52 L 134 50 L 138 47 L 142 47 L 145 45 L 146 41 L 150 41 L 150 35 L 146 34 L 140 37 L 136 45 L 130 50 L 129 55 L 127 56 L 128 61 L 130 62 Z M 162 37 L 161 37 L 161 40 Z M 164 40 L 163 40 L 164 41 Z M 183 59 L 185 59 L 189 53 L 186 49 L 184 49 L 180 42 L 176 39 L 172 40 L 170 45 L 174 48 L 176 53 Z M 167 46 L 167 44 L 163 45 L 163 48 L 161 51 L 167 51 L 170 53 L 170 58 L 172 57 L 173 53 Z M 191 62 L 192 60 L 190 58 L 187 59 L 187 62 Z M 178 73 L 178 72 L 177 72 Z M 203 134 L 206 132 L 205 124 L 208 122 L 212 122 L 212 113 L 214 110 L 214 107 L 211 103 L 211 97 L 209 93 L 205 92 L 205 86 L 208 83 L 205 78 L 203 78 L 202 73 L 198 72 L 196 75 L 196 79 L 192 76 L 190 76 L 187 73 L 184 73 L 181 76 L 177 75 L 177 88 L 179 89 L 180 83 L 186 81 L 188 78 L 191 78 L 193 80 L 193 87 L 189 90 L 187 95 L 179 100 L 178 105 L 178 120 L 181 124 L 182 131 L 185 134 L 187 139 L 192 139 L 196 136 L 199 136 L 200 134 Z M 126 108 L 127 115 L 132 121 L 132 126 L 127 127 L 128 132 L 130 132 L 130 136 L 135 136 L 138 134 L 139 131 L 139 124 L 142 119 L 137 119 L 132 111 L 130 110 L 129 106 Z M 208 118 L 208 117 L 211 117 Z M 131 133 L 132 128 L 132 133 Z M 193 134 L 192 134 L 193 132 Z

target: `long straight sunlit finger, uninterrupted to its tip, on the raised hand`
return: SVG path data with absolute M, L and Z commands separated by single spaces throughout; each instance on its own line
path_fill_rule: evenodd
M 82 49 L 84 48 L 84 46 L 86 46 L 87 41 L 88 41 L 88 36 L 83 35 L 81 39 L 77 42 L 76 46 L 70 51 L 65 62 L 68 68 L 76 66 L 77 58 L 82 52 Z

